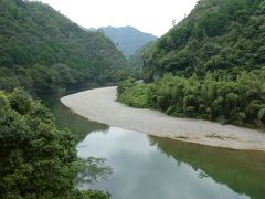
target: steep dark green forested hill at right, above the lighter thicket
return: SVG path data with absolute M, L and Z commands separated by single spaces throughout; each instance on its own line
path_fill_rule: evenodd
M 239 73 L 265 63 L 264 0 L 200 0 L 145 55 L 142 77 Z

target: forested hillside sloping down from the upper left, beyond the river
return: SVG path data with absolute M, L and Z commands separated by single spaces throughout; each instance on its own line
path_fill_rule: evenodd
M 127 61 L 110 40 L 41 2 L 0 1 L 0 90 L 33 94 L 119 81 Z

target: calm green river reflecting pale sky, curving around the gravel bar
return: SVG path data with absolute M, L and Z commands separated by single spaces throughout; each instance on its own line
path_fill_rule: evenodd
M 84 119 L 49 103 L 62 127 L 80 135 L 80 157 L 100 157 L 114 169 L 93 188 L 114 199 L 264 199 L 265 153 L 206 147 Z M 115 114 L 115 113 L 114 113 Z

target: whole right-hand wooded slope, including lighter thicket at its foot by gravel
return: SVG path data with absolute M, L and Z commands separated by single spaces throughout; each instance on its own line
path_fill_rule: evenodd
M 178 117 L 264 128 L 265 1 L 200 0 L 144 53 L 142 78 L 150 84 L 120 84 L 118 100 Z

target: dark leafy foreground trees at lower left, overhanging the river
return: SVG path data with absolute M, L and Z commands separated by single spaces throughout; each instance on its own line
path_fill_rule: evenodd
M 0 198 L 109 198 L 76 189 L 112 169 L 102 159 L 77 158 L 72 133 L 21 88 L 0 93 Z

